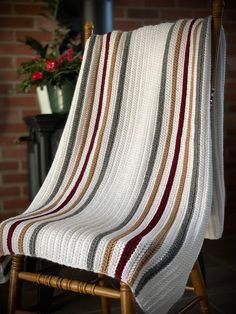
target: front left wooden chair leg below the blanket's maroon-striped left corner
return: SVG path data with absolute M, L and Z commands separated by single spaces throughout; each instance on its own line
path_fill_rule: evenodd
M 8 314 L 15 314 L 20 304 L 21 281 L 18 279 L 18 273 L 23 270 L 23 267 L 24 257 L 21 255 L 13 256 L 9 285 Z

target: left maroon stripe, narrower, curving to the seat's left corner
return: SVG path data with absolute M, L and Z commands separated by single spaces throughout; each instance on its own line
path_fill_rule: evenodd
M 12 235 L 13 235 L 13 232 L 16 229 L 16 227 L 23 221 L 28 221 L 28 220 L 31 220 L 31 219 L 34 219 L 34 218 L 44 217 L 44 216 L 51 215 L 51 214 L 54 214 L 54 213 L 58 212 L 60 209 L 62 209 L 71 200 L 71 198 L 75 194 L 75 192 L 76 192 L 76 190 L 77 190 L 77 188 L 78 188 L 78 186 L 79 186 L 79 184 L 80 184 L 80 182 L 81 182 L 81 180 L 82 180 L 82 178 L 84 176 L 84 173 L 85 173 L 88 161 L 89 161 L 89 157 L 90 157 L 92 149 L 93 149 L 93 145 L 94 145 L 94 142 L 95 142 L 95 138 L 96 138 L 96 134 L 97 134 L 97 131 L 98 131 L 98 126 L 99 126 L 99 121 L 100 121 L 100 117 L 101 117 L 102 101 L 103 101 L 104 86 L 105 86 L 105 78 L 106 78 L 106 72 L 107 72 L 107 61 L 108 61 L 110 37 L 111 37 L 111 33 L 108 33 L 107 36 L 106 36 L 105 57 L 104 57 L 104 65 L 103 65 L 103 73 L 102 73 L 101 90 L 100 90 L 100 96 L 99 96 L 98 112 L 97 112 L 97 117 L 96 117 L 96 121 L 95 121 L 95 125 L 94 125 L 93 135 L 92 135 L 92 138 L 91 138 L 91 142 L 90 142 L 90 145 L 89 145 L 89 149 L 88 149 L 88 152 L 87 152 L 87 155 L 86 155 L 86 158 L 85 158 L 85 161 L 84 161 L 81 173 L 80 173 L 80 175 L 79 175 L 79 177 L 78 177 L 74 187 L 70 191 L 69 195 L 67 196 L 67 198 L 64 200 L 64 202 L 60 206 L 55 208 L 50 213 L 45 213 L 45 214 L 34 216 L 34 217 L 31 217 L 31 218 L 21 219 L 21 220 L 18 220 L 14 224 L 11 225 L 11 227 L 10 227 L 10 229 L 8 231 L 8 236 L 7 236 L 7 246 L 8 246 L 8 249 L 9 249 L 11 254 L 13 254 L 13 251 L 12 251 Z

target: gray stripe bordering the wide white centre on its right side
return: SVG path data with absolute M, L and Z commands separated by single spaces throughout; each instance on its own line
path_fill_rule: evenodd
M 142 198 L 144 196 L 144 193 L 147 189 L 148 183 L 150 181 L 150 177 L 152 174 L 153 166 L 155 163 L 156 159 L 156 153 L 157 153 L 157 148 L 159 146 L 159 140 L 160 140 L 160 133 L 161 133 L 161 127 L 162 127 L 162 120 L 163 120 L 163 108 L 164 108 L 164 102 L 165 102 L 165 86 L 166 86 L 166 71 L 167 71 L 167 59 L 168 59 L 168 49 L 169 49 L 169 44 L 170 44 L 170 38 L 171 34 L 173 31 L 173 26 L 170 28 L 168 36 L 167 36 L 167 42 L 166 42 L 166 47 L 165 47 L 165 52 L 164 52 L 164 57 L 163 57 L 163 67 L 162 67 L 162 78 L 161 78 L 161 86 L 160 86 L 160 97 L 159 97 L 159 104 L 158 104 L 158 114 L 157 114 L 157 120 L 156 120 L 156 128 L 155 128 L 155 133 L 154 133 L 154 138 L 153 138 L 153 143 L 152 143 L 152 151 L 150 154 L 150 158 L 148 161 L 148 166 L 147 166 L 147 171 L 145 173 L 143 183 L 140 189 L 140 192 L 138 194 L 138 197 L 133 205 L 133 208 L 131 209 L 129 215 L 125 218 L 125 220 L 119 224 L 117 227 L 110 229 L 106 232 L 103 232 L 94 238 L 89 254 L 88 254 L 88 264 L 87 267 L 88 269 L 93 268 L 93 263 L 94 263 L 94 258 L 96 254 L 96 250 L 99 244 L 99 241 L 105 237 L 108 234 L 111 234 L 122 227 L 124 227 L 133 217 L 135 212 L 137 211 Z

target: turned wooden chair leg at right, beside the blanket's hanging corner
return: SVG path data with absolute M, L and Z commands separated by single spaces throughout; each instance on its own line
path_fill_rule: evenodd
M 198 297 L 201 297 L 200 308 L 202 314 L 210 314 L 210 305 L 208 301 L 208 296 L 206 292 L 206 286 L 202 277 L 201 269 L 199 266 L 199 262 L 197 261 L 191 272 L 191 280 L 194 287 L 194 291 Z

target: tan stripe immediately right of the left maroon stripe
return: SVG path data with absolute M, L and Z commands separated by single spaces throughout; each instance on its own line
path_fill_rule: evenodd
M 107 97 L 106 97 L 104 118 L 103 118 L 103 121 L 102 121 L 101 129 L 99 131 L 98 141 L 97 141 L 96 149 L 95 149 L 95 152 L 94 152 L 94 157 L 93 157 L 93 160 L 92 160 L 92 163 L 91 163 L 91 168 L 90 168 L 90 171 L 89 171 L 89 174 L 88 174 L 88 178 L 86 180 L 86 183 L 85 183 L 82 191 L 80 192 L 79 196 L 74 201 L 74 203 L 69 208 L 67 208 L 65 211 L 63 211 L 62 213 L 58 212 L 56 215 L 53 215 L 53 217 L 50 217 L 50 218 L 59 217 L 61 214 L 65 214 L 68 211 L 70 211 L 71 209 L 73 209 L 73 207 L 75 207 L 80 202 L 80 200 L 82 199 L 82 197 L 86 193 L 86 191 L 87 191 L 87 189 L 88 189 L 88 187 L 89 187 L 89 185 L 90 185 L 90 183 L 92 181 L 92 178 L 93 178 L 93 175 L 94 175 L 94 172 L 95 172 L 95 168 L 96 168 L 96 165 L 97 165 L 97 161 L 98 161 L 99 152 L 100 152 L 100 149 L 101 149 L 101 144 L 102 144 L 102 140 L 103 140 L 103 135 L 104 135 L 107 119 L 108 119 L 108 113 L 109 113 L 109 108 L 110 108 L 111 92 L 112 92 L 112 81 L 113 81 L 113 76 L 114 76 L 115 62 L 116 62 L 116 56 L 117 56 L 118 45 L 119 45 L 119 42 L 120 42 L 121 34 L 122 34 L 121 32 L 117 33 L 116 38 L 115 38 L 114 49 L 113 49 L 113 54 L 112 54 L 112 58 L 111 58 L 111 67 L 110 67 L 111 70 L 110 70 L 109 78 L 108 78 L 108 89 L 107 89 L 108 90 L 108 94 L 107 94 Z M 101 50 L 100 50 L 100 52 L 101 52 Z M 97 73 L 97 71 L 95 71 L 95 73 Z M 78 166 L 78 164 L 79 164 L 79 162 L 77 163 L 77 166 Z M 76 171 L 76 169 L 75 169 L 75 171 Z M 73 179 L 73 175 L 74 174 L 72 173 L 71 180 Z M 71 183 L 71 182 L 69 182 L 69 183 Z M 67 184 L 67 187 L 68 187 L 68 184 Z M 25 233 L 27 232 L 28 228 L 32 224 L 33 224 L 33 222 L 28 224 L 27 226 L 25 226 L 22 229 L 21 234 L 19 235 L 19 242 L 18 243 L 19 243 L 19 251 L 20 251 L 21 254 L 23 253 L 23 241 L 24 241 Z

